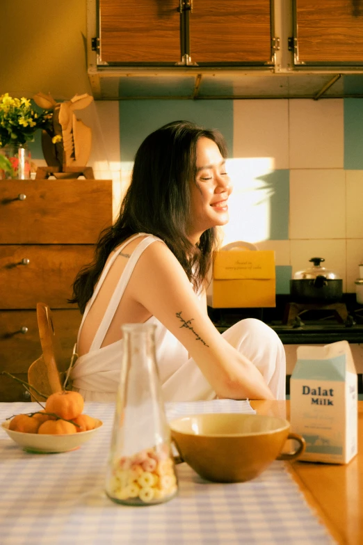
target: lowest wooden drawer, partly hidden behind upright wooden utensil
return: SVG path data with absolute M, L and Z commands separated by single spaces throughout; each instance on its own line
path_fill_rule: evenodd
M 72 350 L 81 324 L 79 310 L 52 310 L 54 321 L 54 352 L 60 371 L 70 364 Z M 26 333 L 21 333 L 26 327 Z M 0 312 L 0 371 L 8 371 L 27 380 L 29 365 L 42 354 L 35 310 Z M 0 375 L 0 402 L 26 401 L 24 388 L 10 377 Z M 30 399 L 29 399 L 30 401 Z

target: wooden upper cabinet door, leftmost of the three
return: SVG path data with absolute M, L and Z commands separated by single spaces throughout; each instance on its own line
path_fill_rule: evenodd
M 178 63 L 178 8 L 179 0 L 99 0 L 102 63 Z

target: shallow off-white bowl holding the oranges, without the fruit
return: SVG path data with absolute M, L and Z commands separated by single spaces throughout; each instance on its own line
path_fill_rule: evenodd
M 25 434 L 24 432 L 13 432 L 9 429 L 10 420 L 6 420 L 1 424 L 1 427 L 6 431 L 8 436 L 18 445 L 29 452 L 51 453 L 51 452 L 67 452 L 79 448 L 82 443 L 86 443 L 92 439 L 102 426 L 102 421 L 95 418 L 96 427 L 88 432 L 77 432 L 76 434 L 67 435 L 50 435 L 50 434 Z

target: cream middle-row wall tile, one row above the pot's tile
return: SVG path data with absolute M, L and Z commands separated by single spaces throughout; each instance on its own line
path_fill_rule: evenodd
M 290 238 L 346 237 L 346 180 L 343 169 L 290 171 Z

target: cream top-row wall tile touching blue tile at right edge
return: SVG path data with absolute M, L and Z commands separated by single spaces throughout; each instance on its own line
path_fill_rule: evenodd
M 343 168 L 343 99 L 289 100 L 290 168 Z

